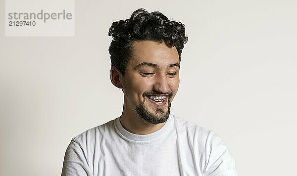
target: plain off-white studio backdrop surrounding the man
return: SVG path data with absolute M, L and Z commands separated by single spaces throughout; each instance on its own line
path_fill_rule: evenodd
M 172 112 L 217 132 L 241 176 L 296 173 L 295 0 L 77 0 L 75 37 L 4 37 L 0 7 L 1 176 L 60 175 L 72 137 L 120 116 L 107 33 L 139 7 L 186 26 Z

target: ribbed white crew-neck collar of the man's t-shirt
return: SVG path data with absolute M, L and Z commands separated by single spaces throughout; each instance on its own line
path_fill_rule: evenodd
M 172 115 L 170 114 L 167 121 L 165 122 L 165 125 L 162 128 L 160 128 L 156 132 L 152 132 L 149 134 L 134 134 L 132 132 L 128 132 L 122 126 L 119 117 L 115 119 L 115 127 L 116 127 L 117 131 L 120 133 L 120 135 L 122 137 L 124 137 L 125 139 L 128 139 L 130 141 L 135 141 L 135 142 L 149 142 L 149 141 L 158 139 L 159 137 L 161 137 L 164 133 L 166 133 L 168 131 L 167 130 L 168 127 L 170 126 L 170 124 L 172 124 L 171 116 Z

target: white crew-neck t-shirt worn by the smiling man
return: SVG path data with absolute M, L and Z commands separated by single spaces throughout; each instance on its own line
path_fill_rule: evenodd
M 126 131 L 119 118 L 74 137 L 62 176 L 238 176 L 234 159 L 212 131 L 170 114 L 158 131 Z

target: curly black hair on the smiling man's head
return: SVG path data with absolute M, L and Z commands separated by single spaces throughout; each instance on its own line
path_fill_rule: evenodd
M 124 75 L 129 58 L 133 55 L 132 45 L 136 41 L 165 42 L 168 47 L 175 46 L 181 61 L 184 44 L 188 42 L 185 25 L 170 21 L 161 12 L 148 13 L 140 8 L 134 11 L 130 19 L 112 23 L 108 36 L 112 36 L 109 45 L 111 66 L 115 66 Z

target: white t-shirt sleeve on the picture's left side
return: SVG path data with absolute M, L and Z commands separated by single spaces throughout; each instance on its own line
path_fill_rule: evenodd
M 62 176 L 93 176 L 83 149 L 74 140 L 67 147 Z

